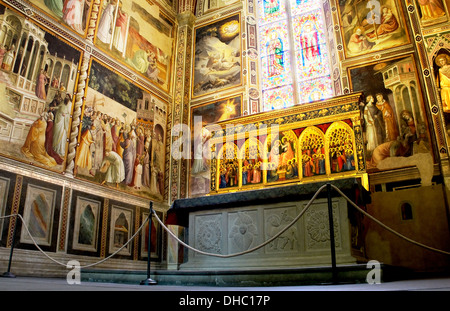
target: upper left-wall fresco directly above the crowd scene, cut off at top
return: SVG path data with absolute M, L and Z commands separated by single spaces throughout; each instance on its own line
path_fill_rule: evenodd
M 157 4 L 144 0 L 104 0 L 95 44 L 167 91 L 174 26 Z

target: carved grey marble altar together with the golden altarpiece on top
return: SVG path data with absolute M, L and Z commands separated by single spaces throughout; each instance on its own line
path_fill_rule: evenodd
M 195 249 L 235 254 L 276 235 L 326 182 L 344 191 L 352 191 L 357 179 L 365 184 L 360 96 L 214 124 L 207 148 L 210 192 L 175 200 L 167 223 L 188 228 L 185 241 Z M 350 230 L 347 202 L 333 194 L 332 206 L 337 263 L 354 263 L 350 232 L 357 230 Z M 229 258 L 189 250 L 180 268 L 320 266 L 331 263 L 330 253 L 328 204 L 322 195 L 295 225 L 264 247 Z

